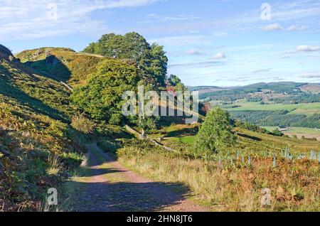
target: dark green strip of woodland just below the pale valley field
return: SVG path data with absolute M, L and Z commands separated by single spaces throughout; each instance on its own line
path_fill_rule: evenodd
M 307 116 L 305 114 L 288 113 L 287 110 L 231 112 L 235 119 L 259 126 L 320 128 L 320 114 Z

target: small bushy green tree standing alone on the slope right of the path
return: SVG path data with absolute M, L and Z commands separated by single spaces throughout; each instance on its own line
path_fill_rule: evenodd
M 199 154 L 218 153 L 218 149 L 235 144 L 230 114 L 220 107 L 208 112 L 196 136 L 195 150 Z

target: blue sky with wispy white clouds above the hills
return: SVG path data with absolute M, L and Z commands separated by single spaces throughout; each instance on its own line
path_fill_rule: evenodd
M 136 31 L 186 85 L 320 82 L 320 0 L 0 0 L 14 53 Z

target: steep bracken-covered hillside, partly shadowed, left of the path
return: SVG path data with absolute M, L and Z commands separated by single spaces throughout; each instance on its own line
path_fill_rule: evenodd
M 81 163 L 82 134 L 69 125 L 70 91 L 0 47 L 0 211 L 41 210 Z

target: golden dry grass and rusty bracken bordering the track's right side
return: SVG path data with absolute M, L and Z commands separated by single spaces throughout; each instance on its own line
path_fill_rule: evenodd
M 213 161 L 186 160 L 159 152 L 132 156 L 127 151 L 119 151 L 125 166 L 155 181 L 183 183 L 196 201 L 215 211 L 320 210 L 317 162 L 281 161 L 274 169 L 271 158 L 253 158 L 252 166 L 235 162 L 221 168 Z M 272 192 L 271 206 L 261 205 L 263 188 Z

